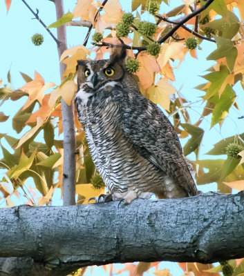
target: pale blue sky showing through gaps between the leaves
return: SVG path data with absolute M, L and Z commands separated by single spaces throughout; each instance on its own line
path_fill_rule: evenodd
M 72 12 L 76 1 L 69 0 L 64 1 L 64 3 L 65 12 Z M 122 4 L 123 10 L 126 12 L 131 11 L 131 1 L 120 0 L 120 3 Z M 162 2 L 160 12 L 165 13 L 169 11 L 169 9 L 179 6 L 182 1 L 171 0 L 171 3 L 173 4 L 171 4 L 169 8 L 169 6 Z M 29 0 L 28 4 L 33 10 L 36 8 L 39 9 L 39 17 L 41 17 L 47 26 L 56 21 L 53 2 L 48 0 Z M 149 17 L 149 15 L 145 13 L 144 17 Z M 12 86 L 15 89 L 20 88 L 25 84 L 25 81 L 22 79 L 19 72 L 24 72 L 27 75 L 30 75 L 30 77 L 34 77 L 34 72 L 37 70 L 37 72 L 44 77 L 46 82 L 52 81 L 56 84 L 60 83 L 59 59 L 56 43 L 37 19 L 32 18 L 33 15 L 21 0 L 12 1 L 8 15 L 6 14 L 4 1 L 0 2 L 0 26 L 2 38 L 2 43 L 0 44 L 0 79 L 3 79 L 3 83 L 7 83 L 7 73 L 8 70 L 10 70 Z M 50 30 L 56 34 L 55 28 Z M 83 43 L 86 31 L 86 28 L 68 27 L 68 48 Z M 34 46 L 31 41 L 32 35 L 37 32 L 44 35 L 44 43 L 39 47 Z M 89 42 L 91 42 L 91 39 Z M 214 64 L 214 61 L 206 61 L 206 57 L 216 48 L 214 43 L 208 41 L 203 41 L 200 46 L 203 50 L 197 50 L 198 59 L 193 59 L 189 54 L 187 54 L 185 61 L 181 63 L 179 68 L 174 70 L 176 81 L 173 83 L 173 86 L 180 90 L 180 93 L 187 100 L 191 101 L 191 110 L 188 111 L 192 116 L 192 123 L 198 119 L 202 112 L 201 108 L 203 107 L 200 106 L 200 96 L 203 95 L 203 93 L 194 89 L 194 87 L 204 82 L 200 75 L 204 75 L 207 68 Z M 88 43 L 88 47 L 91 47 L 91 44 Z M 177 62 L 174 64 L 177 66 Z M 238 95 L 237 102 L 241 107 L 241 110 L 244 110 L 244 93 L 241 85 L 238 83 L 234 87 L 234 90 Z M 15 115 L 15 112 L 23 106 L 25 101 L 25 97 L 24 99 L 15 102 L 7 101 L 0 107 L 0 111 L 3 111 L 6 115 L 12 117 Z M 222 128 L 220 129 L 219 126 L 214 126 L 212 130 L 209 130 L 211 118 L 207 117 L 204 119 L 203 123 L 200 125 L 200 127 L 205 130 L 203 145 L 200 149 L 200 159 L 209 158 L 209 156 L 204 155 L 204 153 L 211 149 L 220 139 L 236 133 L 241 133 L 243 129 L 243 121 L 237 119 L 237 117 L 240 117 L 241 115 L 243 115 L 241 111 L 232 108 L 229 112 L 229 116 L 225 119 Z M 15 131 L 12 130 L 12 122 L 10 118 L 5 123 L 0 124 L 0 130 L 1 132 L 6 132 L 15 137 L 21 137 L 28 130 L 28 127 L 24 128 L 19 135 L 16 135 Z M 182 141 L 182 144 L 184 143 L 185 141 Z M 210 189 L 214 190 L 214 186 Z M 209 187 L 207 187 L 207 190 L 209 190 Z

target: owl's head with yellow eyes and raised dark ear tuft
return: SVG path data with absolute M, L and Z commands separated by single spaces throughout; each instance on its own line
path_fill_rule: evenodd
M 110 59 L 77 61 L 78 90 L 85 89 L 86 92 L 93 93 L 131 78 L 124 66 L 125 59 L 126 49 L 120 48 L 113 51 Z

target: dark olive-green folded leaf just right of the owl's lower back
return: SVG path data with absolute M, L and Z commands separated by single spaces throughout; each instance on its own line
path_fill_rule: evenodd
M 187 156 L 194 150 L 198 150 L 200 143 L 203 139 L 203 128 L 198 128 L 198 126 L 192 126 L 191 124 L 180 124 L 190 135 L 191 139 L 185 144 L 183 151 L 184 155 Z

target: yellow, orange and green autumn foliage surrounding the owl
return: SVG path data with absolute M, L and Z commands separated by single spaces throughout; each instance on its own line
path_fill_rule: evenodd
M 95 52 L 96 58 L 101 59 L 105 52 L 111 51 L 108 46 L 118 46 L 121 43 L 124 43 L 128 49 L 129 58 L 126 68 L 135 76 L 142 94 L 162 106 L 169 116 L 173 117 L 173 124 L 180 138 L 187 138 L 184 152 L 185 155 L 191 154 L 191 159 L 193 155 L 196 157 L 192 163 L 196 170 L 197 184 L 216 182 L 218 191 L 221 193 L 231 193 L 232 189 L 244 189 L 244 133 L 236 133 L 234 136 L 218 141 L 212 150 L 207 152 L 207 155 L 213 155 L 216 159 L 198 159 L 199 150 L 203 146 L 203 135 L 207 132 L 207 129 L 200 127 L 200 124 L 210 118 L 209 128 L 214 128 L 217 124 L 221 127 L 228 117 L 229 110 L 231 108 L 238 110 L 234 86 L 236 83 L 244 86 L 242 23 L 244 2 L 215 0 L 203 12 L 189 19 L 185 26 L 182 26 L 183 23 L 180 23 L 180 20 L 205 5 L 206 1 L 179 1 L 178 7 L 172 8 L 167 14 L 162 14 L 160 7 L 167 2 L 171 6 L 173 0 L 132 0 L 132 13 L 124 13 L 118 0 L 109 0 L 104 7 L 102 7 L 102 1 L 78 0 L 72 12 L 64 14 L 48 28 L 73 23 L 73 19 L 77 18 L 90 21 L 96 46 L 86 48 L 79 45 L 63 52 L 60 61 L 66 65 L 66 70 L 62 83 L 57 86 L 53 82 L 45 82 L 38 72 L 33 74 L 34 79 L 21 73 L 26 84 L 17 90 L 12 89 L 10 73 L 9 83 L 4 85 L 1 83 L 1 105 L 4 106 L 5 101 L 26 99 L 24 106 L 17 110 L 12 118 L 12 128 L 17 134 L 23 131 L 24 135 L 17 139 L 0 133 L 0 146 L 3 153 L 0 168 L 5 171 L 1 179 L 0 191 L 8 206 L 13 205 L 11 197 L 19 196 L 19 190 L 24 190 L 28 204 L 49 204 L 54 190 L 62 187 L 64 150 L 63 141 L 58 137 L 63 132 L 60 99 L 63 98 L 68 105 L 71 105 L 77 91 L 77 85 L 73 79 L 78 59 L 90 59 L 91 52 Z M 7 10 L 10 4 L 11 0 L 6 0 Z M 144 14 L 147 16 L 145 17 Z M 144 21 L 144 18 L 147 21 Z M 180 27 L 180 24 L 184 28 Z M 178 29 L 167 36 L 176 26 Z M 85 27 L 81 24 L 80 28 Z M 205 83 L 197 87 L 198 95 L 203 99 L 200 106 L 203 111 L 196 123 L 192 124 L 191 121 L 194 120 L 190 112 L 192 103 L 176 90 L 171 81 L 176 79 L 173 70 L 176 68 L 176 63 L 178 62 L 177 66 L 180 66 L 187 52 L 196 59 L 196 46 L 200 49 L 201 43 L 205 40 L 216 43 L 216 50 L 207 57 L 208 60 L 216 63 L 203 76 Z M 40 34 L 35 34 L 32 41 L 35 45 L 41 45 L 44 42 Z M 3 121 L 10 121 L 10 119 L 4 112 L 0 112 L 0 122 Z M 86 204 L 89 197 L 104 193 L 104 184 L 96 172 L 86 144 L 84 130 L 77 116 L 75 129 L 77 203 Z M 3 146 L 3 141 L 11 150 Z M 42 196 L 38 201 L 34 200 L 35 193 L 26 187 L 27 179 L 32 179 L 41 193 Z M 26 192 L 27 189 L 28 192 Z M 219 275 L 221 270 L 224 275 L 241 275 L 243 266 L 243 260 L 233 260 L 223 267 L 180 264 L 183 271 L 207 276 L 213 273 Z M 144 271 L 151 268 L 154 269 L 155 275 L 170 275 L 169 270 L 160 270 L 158 263 L 126 264 L 124 270 L 129 270 L 131 275 L 142 275 Z M 108 266 L 104 266 L 104 269 L 107 270 Z M 190 272 L 185 272 L 185 275 L 191 274 Z

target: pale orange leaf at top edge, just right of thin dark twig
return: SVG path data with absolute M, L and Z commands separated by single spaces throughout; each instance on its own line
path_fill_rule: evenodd
M 102 19 L 106 23 L 117 24 L 120 22 L 122 17 L 122 8 L 118 0 L 108 1 L 103 10 L 105 13 L 102 15 Z

